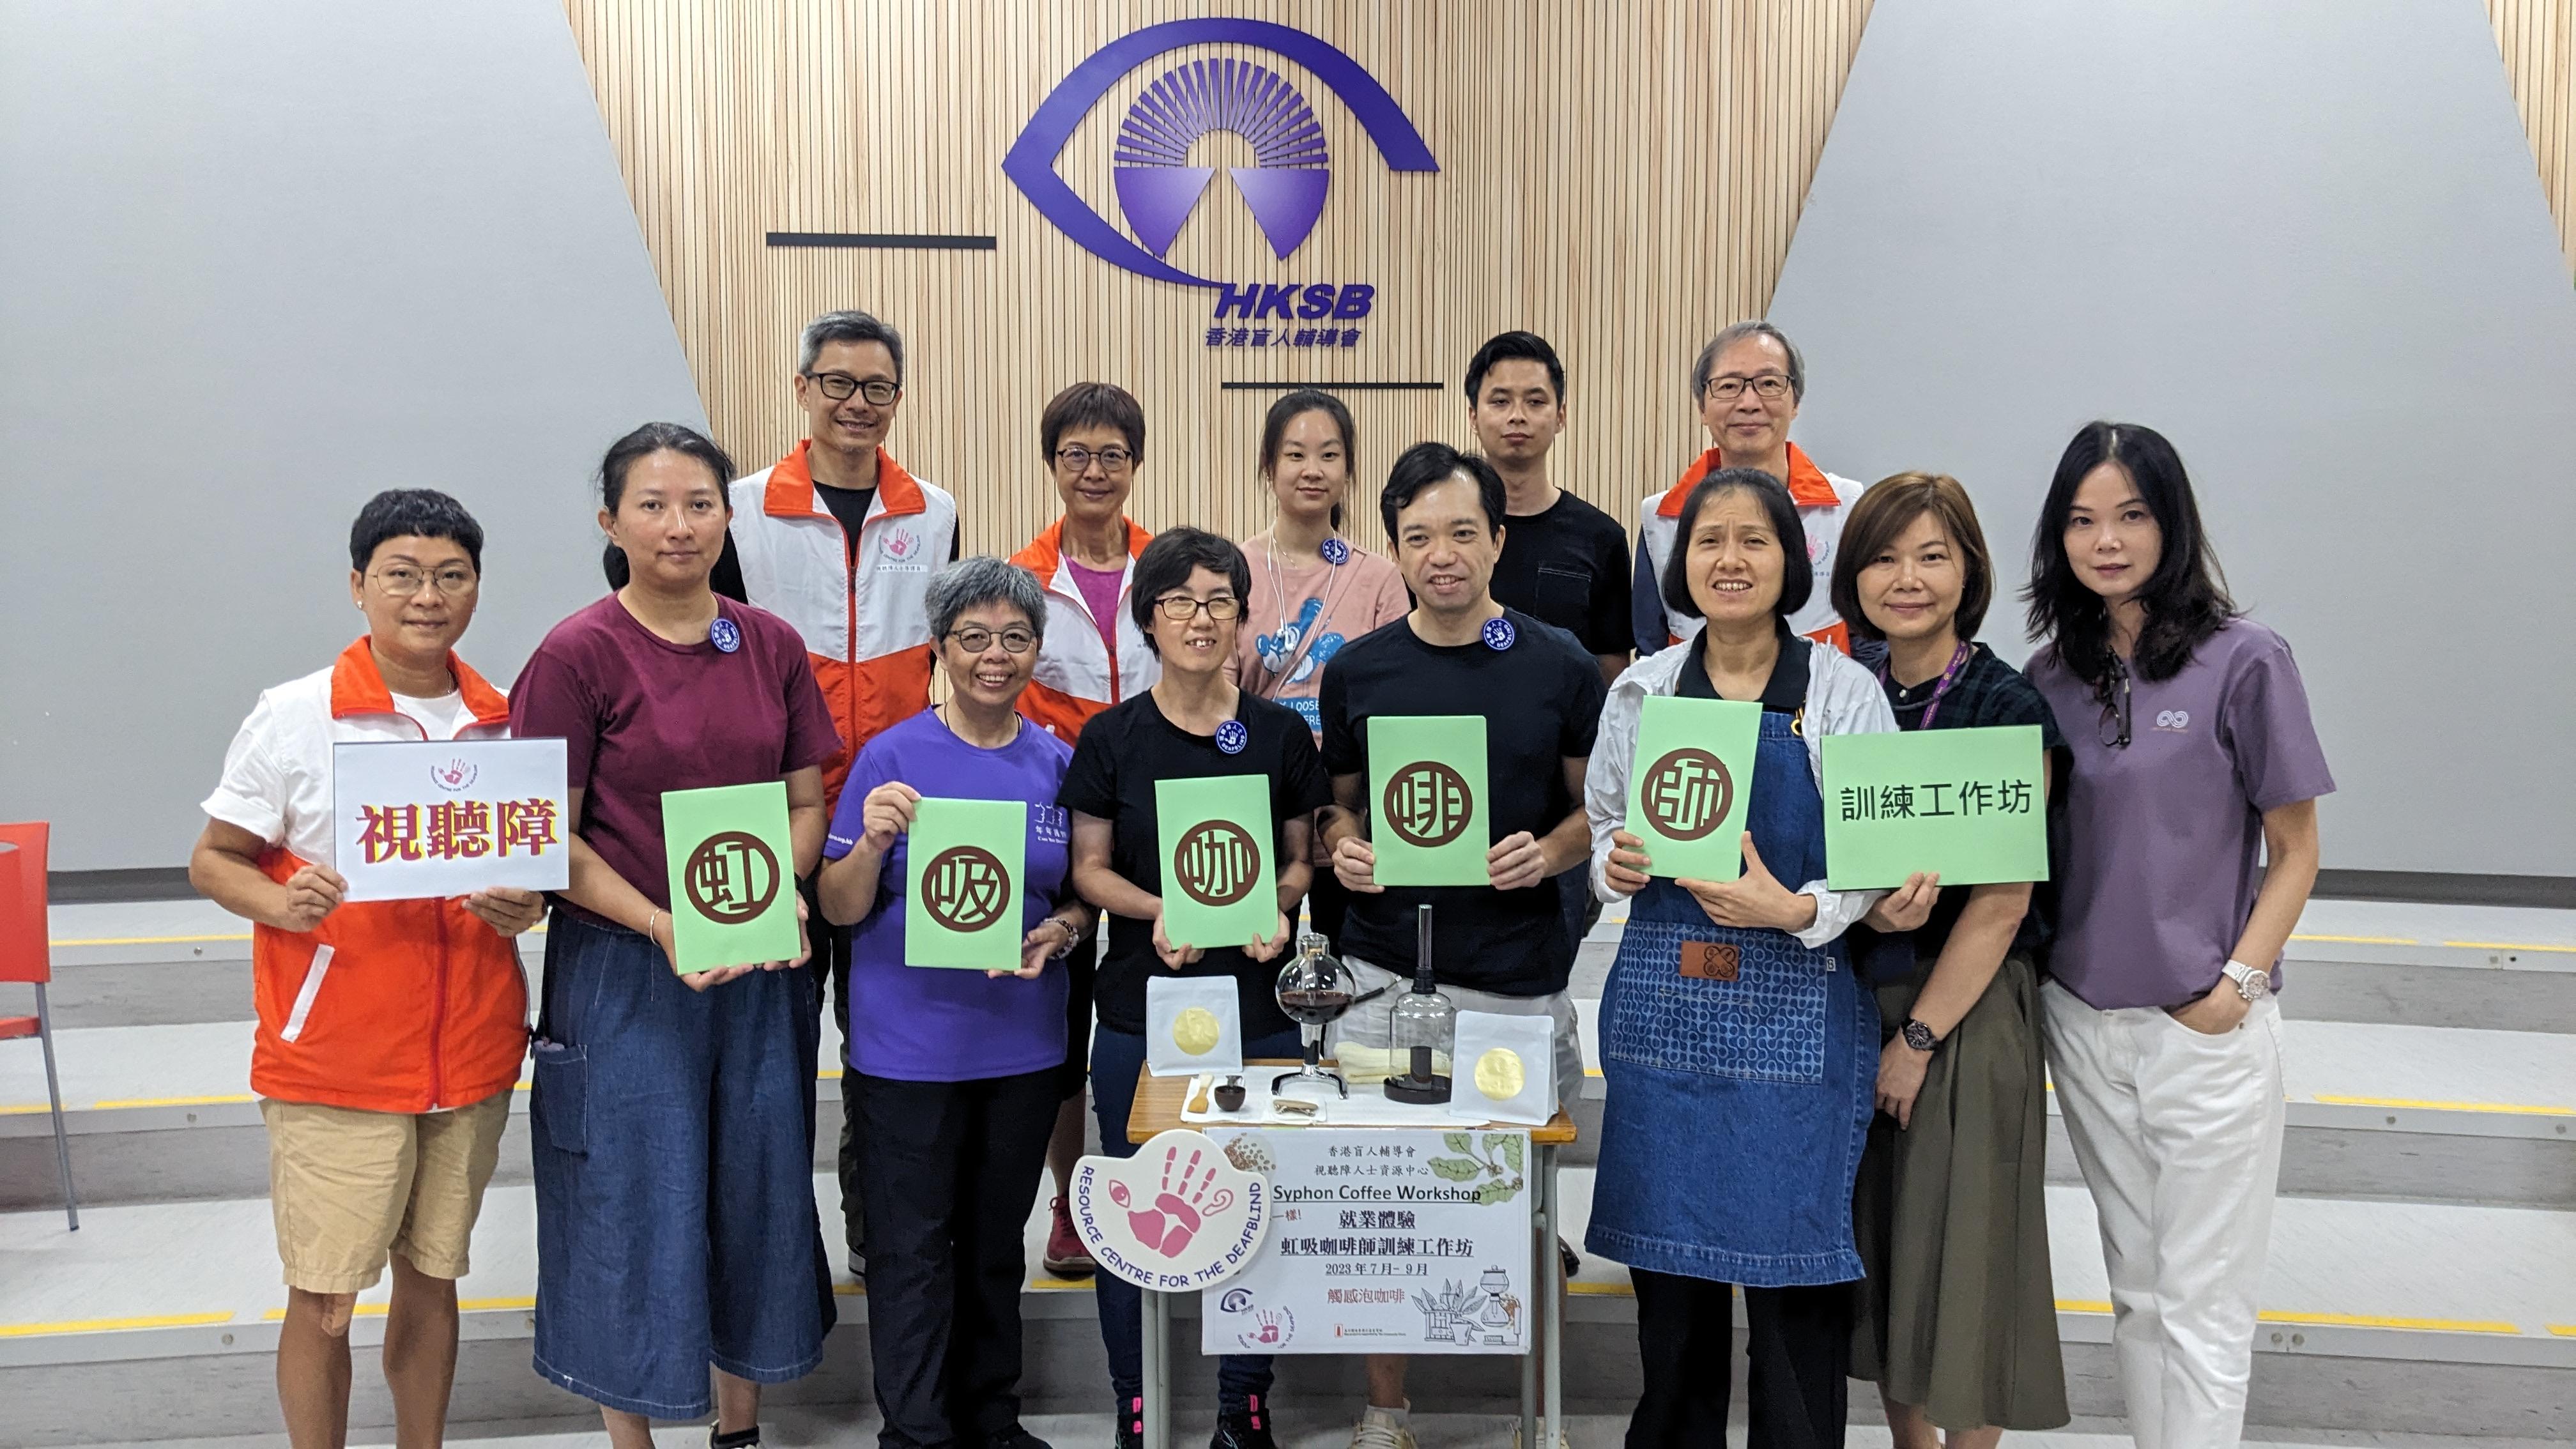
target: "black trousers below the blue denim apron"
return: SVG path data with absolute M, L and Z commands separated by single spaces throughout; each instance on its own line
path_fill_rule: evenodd
M 1726 1449 L 1736 1302 L 1728 1284 L 1631 1269 L 1646 1387 L 1628 1449 Z M 876 1299 L 868 1299 L 871 1305 Z M 1744 1289 L 1749 1449 L 1839 1449 L 1850 1410 L 1852 1289 Z

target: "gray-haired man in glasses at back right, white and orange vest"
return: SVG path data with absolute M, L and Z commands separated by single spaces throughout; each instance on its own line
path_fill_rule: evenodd
M 1664 608 L 1664 559 L 1672 554 L 1682 500 L 1703 477 L 1721 467 L 1757 467 L 1785 482 L 1798 521 L 1806 523 L 1806 557 L 1819 578 L 1834 570 L 1842 518 L 1862 495 L 1862 485 L 1824 472 L 1788 441 L 1788 425 L 1798 420 L 1798 402 L 1806 397 L 1806 358 L 1780 327 L 1752 320 L 1710 338 L 1700 348 L 1700 361 L 1690 366 L 1690 397 L 1713 446 L 1692 459 L 1672 487 L 1649 495 L 1638 508 L 1636 572 L 1628 583 L 1638 655 L 1677 645 L 1700 629 L 1698 619 L 1677 619 Z M 1852 650 L 1834 601 L 1821 593 L 1790 614 L 1788 624 L 1808 639 Z

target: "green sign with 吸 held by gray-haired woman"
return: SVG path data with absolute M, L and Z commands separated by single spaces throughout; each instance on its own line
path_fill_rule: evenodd
M 1028 802 L 922 799 L 904 835 L 904 964 L 1020 969 Z

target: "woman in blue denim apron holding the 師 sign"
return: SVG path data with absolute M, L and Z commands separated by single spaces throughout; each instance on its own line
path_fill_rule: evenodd
M 1602 993 L 1587 1243 L 1636 1281 L 1628 1449 L 1726 1444 L 1731 1284 L 1752 1328 L 1749 1444 L 1816 1449 L 1842 1444 L 1852 1173 L 1878 1078 L 1878 1006 L 1842 933 L 1883 895 L 1824 887 L 1819 743 L 1896 719 L 1868 670 L 1788 632 L 1814 565 L 1780 480 L 1710 474 L 1677 539 L 1664 598 L 1708 627 L 1610 688 L 1584 784 L 1595 890 L 1633 897 Z M 1762 701 L 1736 882 L 1646 874 L 1625 817 L 1649 696 Z

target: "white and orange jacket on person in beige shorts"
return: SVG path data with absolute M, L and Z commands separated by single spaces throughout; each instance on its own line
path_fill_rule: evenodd
M 448 655 L 471 722 L 456 740 L 500 740 L 510 704 Z M 268 848 L 260 869 L 286 882 L 307 864 L 337 866 L 332 745 L 428 740 L 399 714 L 358 639 L 319 673 L 260 694 L 224 753 L 206 815 Z M 361 1111 L 471 1106 L 518 1083 L 528 1052 L 528 980 L 518 944 L 464 900 L 355 900 L 312 931 L 252 923 L 250 980 L 260 1026 L 250 1091 Z

